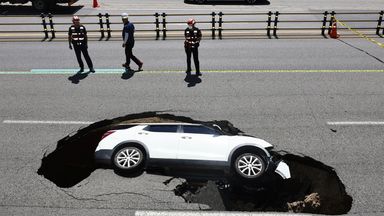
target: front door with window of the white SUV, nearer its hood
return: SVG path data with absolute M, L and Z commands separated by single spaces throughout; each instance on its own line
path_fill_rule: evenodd
M 182 125 L 177 158 L 181 160 L 226 161 L 228 141 L 212 128 L 200 125 Z

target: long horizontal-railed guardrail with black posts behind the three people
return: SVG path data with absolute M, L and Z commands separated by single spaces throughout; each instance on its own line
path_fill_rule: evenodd
M 167 39 L 183 37 L 185 20 L 194 17 L 204 37 L 223 39 L 231 37 L 268 37 L 318 35 L 327 37 L 333 18 L 348 23 L 353 29 L 364 31 L 367 35 L 383 37 L 384 11 L 324 13 L 200 13 L 200 14 L 130 14 L 136 26 L 136 37 Z M 88 29 L 90 38 L 99 40 L 121 39 L 122 22 L 120 15 L 97 14 L 81 15 L 82 24 Z M 28 22 L 26 22 L 28 19 Z M 55 20 L 54 20 L 55 19 Z M 65 15 L 41 14 L 37 16 L 0 16 L 0 39 L 66 39 L 71 17 Z M 63 21 L 64 20 L 64 21 Z M 119 28 L 116 28 L 116 26 Z M 38 29 L 39 28 L 39 29 Z M 345 27 L 343 36 L 353 33 Z M 328 31 L 328 32 L 327 32 Z M 118 33 L 118 36 L 117 36 Z M 272 37 L 273 36 L 273 37 Z

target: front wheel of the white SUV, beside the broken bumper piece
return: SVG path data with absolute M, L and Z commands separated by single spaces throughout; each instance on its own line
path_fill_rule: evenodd
M 255 152 L 239 154 L 233 163 L 233 168 L 241 179 L 259 179 L 266 169 L 266 163 L 262 156 Z

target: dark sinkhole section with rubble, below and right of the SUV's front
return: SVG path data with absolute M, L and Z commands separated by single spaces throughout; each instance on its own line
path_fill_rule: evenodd
M 345 186 L 332 167 L 306 156 L 288 153 L 280 156 L 291 168 L 292 178 L 289 180 L 271 176 L 270 181 L 262 184 L 230 182 L 230 186 L 225 188 L 210 181 L 198 185 L 187 181 L 176 187 L 175 194 L 186 202 L 223 203 L 227 211 L 348 213 L 352 197 L 346 193 Z M 199 196 L 202 191 L 210 191 L 210 194 Z M 209 203 L 199 199 L 206 196 L 210 198 Z M 222 210 L 214 205 L 211 209 Z

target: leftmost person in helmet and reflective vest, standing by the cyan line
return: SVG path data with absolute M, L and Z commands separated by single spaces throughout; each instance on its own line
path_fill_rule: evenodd
M 88 54 L 88 38 L 87 38 L 87 30 L 83 25 L 80 24 L 80 18 L 78 16 L 73 16 L 71 27 L 68 30 L 68 42 L 69 49 L 75 49 L 77 62 L 79 63 L 80 70 L 78 73 L 84 72 L 84 63 L 81 59 L 81 53 L 87 62 L 89 72 L 94 73 L 95 69 L 93 69 L 92 60 Z

